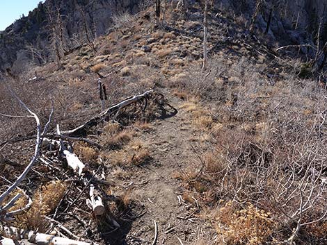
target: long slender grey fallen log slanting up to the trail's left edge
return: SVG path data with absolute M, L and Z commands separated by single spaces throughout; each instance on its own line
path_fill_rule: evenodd
M 113 112 L 120 111 L 122 108 L 125 108 L 131 103 L 136 103 L 138 101 L 142 101 L 143 99 L 148 99 L 151 94 L 154 94 L 153 90 L 149 90 L 147 92 L 144 92 L 143 94 L 135 95 L 128 99 L 125 99 L 124 101 L 121 101 L 120 103 L 117 103 L 111 106 L 110 108 L 107 108 L 96 117 L 93 117 L 92 119 L 86 121 L 85 124 L 82 124 L 81 126 L 78 126 L 77 128 L 74 128 L 72 130 L 63 131 L 62 134 L 69 136 L 85 135 L 86 131 L 89 128 L 97 126 L 97 124 L 99 124 L 100 121 L 103 121 L 104 118 L 108 117 L 108 115 L 113 114 Z

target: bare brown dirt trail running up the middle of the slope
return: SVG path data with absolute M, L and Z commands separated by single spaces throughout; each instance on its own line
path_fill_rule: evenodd
M 180 107 L 182 100 L 164 92 L 174 108 Z M 177 237 L 186 244 L 191 244 L 203 235 L 204 223 L 195 215 L 191 220 L 178 219 L 187 217 L 196 210 L 196 204 L 183 204 L 177 195 L 182 194 L 180 180 L 173 178 L 175 171 L 185 169 L 194 156 L 190 138 L 194 135 L 191 119 L 186 112 L 179 110 L 177 115 L 152 122 L 154 129 L 141 135 L 141 140 L 149 146 L 152 162 L 134 172 L 131 181 L 136 186 L 132 189 L 131 199 L 143 205 L 147 212 L 143 217 L 131 223 L 130 230 L 120 244 L 152 244 L 154 238 L 154 220 L 158 223 L 157 244 L 180 244 Z M 186 206 L 191 206 L 187 209 Z M 170 233 L 166 230 L 173 229 Z

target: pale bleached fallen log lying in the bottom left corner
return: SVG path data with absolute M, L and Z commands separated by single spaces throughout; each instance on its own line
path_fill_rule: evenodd
M 81 242 L 64 237 L 37 233 L 31 230 L 22 230 L 15 227 L 4 226 L 1 232 L 3 236 L 0 240 L 2 245 L 17 245 L 17 240 L 27 240 L 31 244 L 37 245 L 91 245 L 93 243 Z M 19 243 L 18 243 L 19 244 Z

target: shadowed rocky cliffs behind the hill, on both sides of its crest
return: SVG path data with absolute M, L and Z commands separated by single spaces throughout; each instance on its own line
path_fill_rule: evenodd
M 177 0 L 171 0 L 170 2 Z M 200 2 L 188 0 L 189 4 Z M 250 23 L 258 0 L 214 0 L 213 10 L 230 12 Z M 260 0 L 259 0 L 260 1 Z M 113 15 L 136 13 L 145 0 L 47 0 L 39 3 L 27 17 L 22 17 L 0 33 L 0 70 L 6 67 L 21 69 L 31 59 L 45 63 L 51 59 L 51 23 L 60 25 L 65 51 L 78 47 L 88 38 L 106 33 L 113 24 Z M 163 2 L 163 1 L 162 1 Z M 321 0 L 261 0 L 255 27 L 266 31 L 267 40 L 280 44 L 315 44 L 321 23 L 320 42 L 327 40 L 327 1 Z M 270 19 L 270 21 L 269 21 Z M 58 38 L 58 37 L 57 37 Z M 52 37 L 53 39 L 53 37 Z M 303 53 L 312 51 L 303 47 Z M 53 58 L 53 57 L 52 57 Z

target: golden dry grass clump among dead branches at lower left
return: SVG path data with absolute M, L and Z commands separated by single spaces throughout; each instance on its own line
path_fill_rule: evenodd
M 63 198 L 67 186 L 61 181 L 40 187 L 33 195 L 31 208 L 17 217 L 19 228 L 45 232 L 45 217 L 53 212 Z

